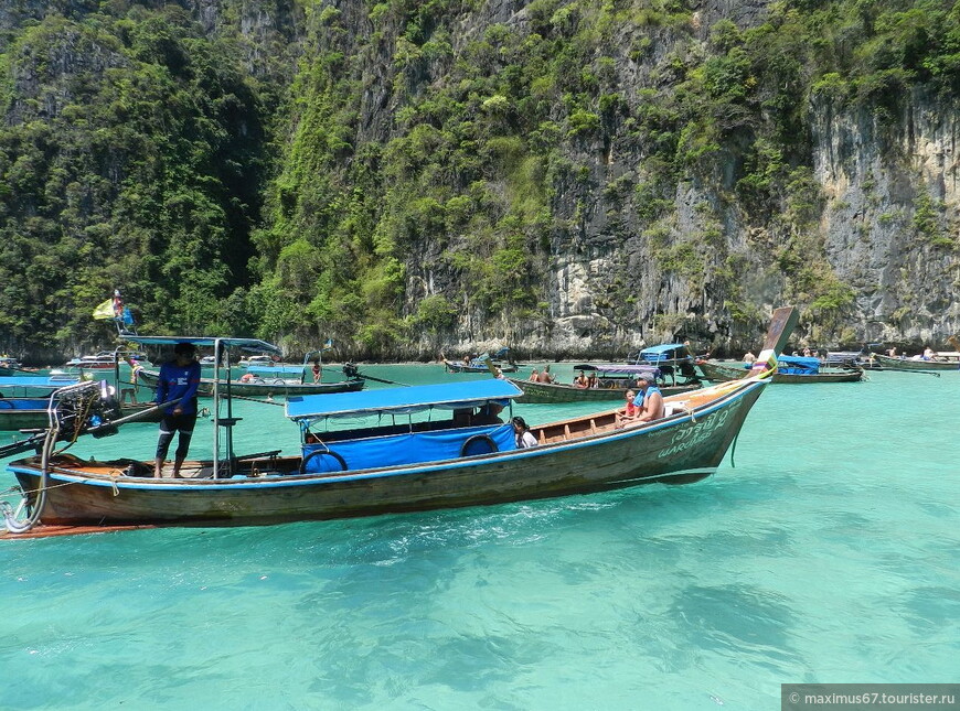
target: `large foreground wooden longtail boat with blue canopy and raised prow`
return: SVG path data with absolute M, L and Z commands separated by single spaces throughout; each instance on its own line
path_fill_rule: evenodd
M 793 309 L 774 316 L 761 353 L 772 368 L 797 320 Z M 224 341 L 215 340 L 217 351 Z M 513 427 L 499 419 L 521 395 L 503 379 L 289 398 L 299 455 L 235 456 L 232 438 L 225 451 L 216 438 L 210 461 L 184 463 L 185 478 L 153 478 L 149 462 L 54 453 L 49 433 L 41 454 L 9 465 L 24 504 L 7 511 L 7 526 L 58 535 L 64 526 L 265 525 L 696 482 L 716 471 L 770 373 L 670 396 L 664 418 L 651 422 L 618 428 L 610 410 L 543 424 L 529 449 L 518 449 Z M 223 405 L 214 402 L 215 419 Z M 374 423 L 355 427 L 360 417 Z M 337 428 L 343 418 L 348 428 Z M 230 429 L 233 418 L 222 419 Z

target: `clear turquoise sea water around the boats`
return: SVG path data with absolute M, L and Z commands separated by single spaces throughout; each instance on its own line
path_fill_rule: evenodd
M 687 486 L 0 542 L 0 708 L 760 710 L 785 682 L 960 681 L 960 373 L 868 377 L 767 388 L 735 466 Z M 238 450 L 296 450 L 280 407 L 238 409 Z M 149 459 L 156 433 L 73 451 Z

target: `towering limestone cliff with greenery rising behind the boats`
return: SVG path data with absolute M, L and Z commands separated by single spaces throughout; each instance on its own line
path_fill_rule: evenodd
M 919 15 L 895 10 L 876 22 L 887 10 L 844 0 L 20 0 L 0 8 L 4 120 L 19 131 L 0 141 L 0 169 L 35 195 L 4 203 L 0 228 L 68 237 L 52 259 L 87 261 L 49 279 L 70 293 L 147 282 L 130 288 L 153 324 L 291 351 L 332 336 L 348 357 L 495 344 L 618 357 L 686 338 L 739 352 L 786 303 L 802 311 L 798 343 L 943 347 L 960 333 L 956 40 L 921 28 L 897 54 L 879 32 Z M 823 25 L 810 42 L 823 18 L 842 25 L 836 39 Z M 122 111 L 138 83 L 153 100 L 150 77 L 171 96 L 216 78 L 223 67 L 191 64 L 204 36 L 236 62 L 210 110 L 158 129 L 149 161 L 127 144 L 97 153 L 111 131 L 136 146 Z M 119 98 L 92 88 L 118 76 Z M 96 96 L 119 106 L 119 126 L 90 127 Z M 46 142 L 18 155 L 43 125 Z M 57 131 L 81 138 L 66 149 Z M 203 153 L 207 136 L 212 158 L 173 163 L 169 147 Z M 137 161 L 149 164 L 132 173 Z M 170 177 L 183 173 L 195 177 L 185 202 Z M 146 208 L 129 222 L 131 203 L 149 203 L 132 174 L 166 181 L 151 198 L 164 227 Z M 207 198 L 215 209 L 180 216 Z M 83 247 L 92 235 L 103 268 Z M 183 244 L 228 270 L 171 276 L 157 256 Z M 60 347 L 88 342 L 81 311 L 44 323 Z M 25 338 L 0 333 L 0 345 Z

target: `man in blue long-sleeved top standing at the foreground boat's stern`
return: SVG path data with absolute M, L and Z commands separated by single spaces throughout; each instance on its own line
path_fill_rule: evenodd
M 196 347 L 192 343 L 178 343 L 173 347 L 173 354 L 174 359 L 160 367 L 157 383 L 157 405 L 170 402 L 170 406 L 163 410 L 163 419 L 160 421 L 154 478 L 163 475 L 163 462 L 177 432 L 180 433 L 180 439 L 173 459 L 173 476 L 180 476 L 180 467 L 186 459 L 190 438 L 196 424 L 196 389 L 200 387 L 200 364 L 194 357 Z

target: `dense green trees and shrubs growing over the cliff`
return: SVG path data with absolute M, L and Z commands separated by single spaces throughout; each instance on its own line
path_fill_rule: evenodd
M 14 351 L 95 340 L 114 288 L 153 333 L 376 356 L 469 314 L 509 336 L 550 321 L 558 257 L 611 248 L 594 308 L 615 325 L 637 319 L 642 252 L 732 319 L 756 311 L 748 270 L 782 272 L 839 327 L 855 292 L 817 234 L 810 101 L 893 123 L 916 87 L 960 94 L 942 0 L 786 0 L 740 26 L 682 0 L 534 0 L 500 22 L 478 0 L 56 7 L 0 28 Z M 685 206 L 687 186 L 712 198 Z M 956 249 L 942 205 L 914 209 Z M 732 219 L 766 246 L 732 251 Z

